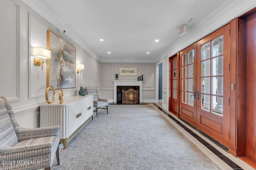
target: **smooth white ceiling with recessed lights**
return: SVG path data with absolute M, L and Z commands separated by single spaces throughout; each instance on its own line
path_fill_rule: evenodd
M 57 27 L 60 34 L 65 30 L 68 37 L 102 62 L 157 62 L 174 43 L 184 38 L 179 35 L 182 25 L 187 24 L 190 30 L 221 4 L 228 2 L 228 0 L 22 1 Z M 189 22 L 190 18 L 192 21 Z M 159 41 L 155 42 L 156 39 Z

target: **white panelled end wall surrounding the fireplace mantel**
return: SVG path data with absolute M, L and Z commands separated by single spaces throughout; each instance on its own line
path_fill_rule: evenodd
M 138 76 L 143 74 L 143 102 L 155 102 L 156 98 L 156 64 L 155 63 L 101 63 L 102 84 L 100 97 L 114 100 L 114 83 L 116 74 L 118 80 L 138 80 L 137 76 L 120 76 L 119 67 L 137 67 Z

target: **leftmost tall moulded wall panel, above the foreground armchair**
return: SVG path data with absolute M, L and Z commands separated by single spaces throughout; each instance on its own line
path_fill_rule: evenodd
M 9 101 L 20 98 L 20 6 L 13 1 L 0 1 L 0 74 L 1 96 Z

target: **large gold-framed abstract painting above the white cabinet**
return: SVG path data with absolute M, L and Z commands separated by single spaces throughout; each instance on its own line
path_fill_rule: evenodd
M 46 86 L 55 89 L 76 87 L 76 48 L 47 30 L 47 48 L 51 58 L 47 61 Z

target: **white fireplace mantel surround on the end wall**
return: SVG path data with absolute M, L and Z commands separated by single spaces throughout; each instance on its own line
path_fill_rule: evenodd
M 114 82 L 114 103 L 116 103 L 116 86 L 140 86 L 140 103 L 142 103 L 142 82 L 136 80 L 115 80 Z

